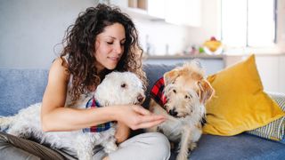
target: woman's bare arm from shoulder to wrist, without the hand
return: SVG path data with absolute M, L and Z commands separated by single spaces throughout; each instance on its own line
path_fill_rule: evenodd
M 112 121 L 110 109 L 63 108 L 69 84 L 67 68 L 54 60 L 48 76 L 42 105 L 44 131 L 70 131 Z

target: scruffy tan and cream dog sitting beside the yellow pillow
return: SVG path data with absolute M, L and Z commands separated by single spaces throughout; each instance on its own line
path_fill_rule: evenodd
M 202 121 L 206 115 L 205 104 L 214 94 L 214 89 L 204 78 L 204 71 L 198 60 L 185 63 L 164 74 L 164 94 L 167 103 L 161 107 L 151 99 L 151 112 L 167 116 L 167 121 L 148 129 L 162 132 L 168 140 L 179 142 L 176 159 L 185 160 L 189 149 L 196 147 L 202 134 Z

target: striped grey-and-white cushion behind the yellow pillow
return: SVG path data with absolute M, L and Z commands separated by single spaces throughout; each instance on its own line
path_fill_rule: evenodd
M 270 97 L 275 100 L 281 109 L 285 112 L 285 94 L 269 93 Z M 285 144 L 285 116 L 267 124 L 263 127 L 249 131 L 248 133 L 263 137 L 269 140 L 277 140 Z

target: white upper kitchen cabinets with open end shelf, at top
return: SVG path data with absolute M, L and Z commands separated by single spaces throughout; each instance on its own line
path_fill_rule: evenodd
M 199 27 L 200 0 L 119 0 L 113 1 L 135 18 L 159 20 L 176 25 Z M 111 1 L 112 4 L 112 1 Z

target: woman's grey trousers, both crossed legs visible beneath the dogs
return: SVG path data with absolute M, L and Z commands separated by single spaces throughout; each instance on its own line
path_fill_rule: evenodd
M 106 154 L 102 148 L 94 148 L 94 160 L 100 160 Z M 167 138 L 159 132 L 136 135 L 118 146 L 118 150 L 109 155 L 110 160 L 166 160 L 170 156 Z M 31 140 L 24 140 L 0 132 L 0 159 L 77 159 L 75 153 L 68 150 L 53 150 Z

